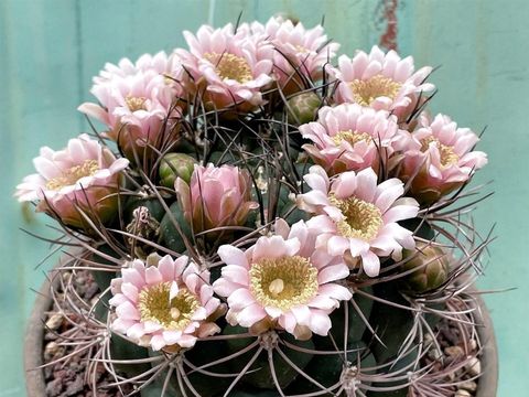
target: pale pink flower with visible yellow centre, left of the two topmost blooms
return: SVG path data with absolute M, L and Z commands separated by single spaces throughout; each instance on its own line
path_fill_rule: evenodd
M 231 24 L 222 29 L 202 25 L 196 36 L 184 37 L 190 52 L 177 50 L 197 87 L 205 86 L 204 101 L 210 108 L 237 106 L 249 111 L 264 103 L 261 90 L 272 82 L 272 45 L 260 35 Z

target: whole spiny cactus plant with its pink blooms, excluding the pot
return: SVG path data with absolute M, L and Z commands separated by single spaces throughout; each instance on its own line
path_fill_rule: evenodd
M 106 131 L 44 148 L 18 186 L 79 248 L 56 272 L 99 286 L 54 294 L 87 379 L 102 364 L 143 397 L 453 396 L 483 343 L 467 289 L 490 237 L 461 200 L 486 155 L 428 117 L 431 68 L 378 47 L 334 67 L 322 26 L 281 18 L 184 34 L 107 65 L 100 105 L 79 107 Z M 441 320 L 462 330 L 447 364 Z

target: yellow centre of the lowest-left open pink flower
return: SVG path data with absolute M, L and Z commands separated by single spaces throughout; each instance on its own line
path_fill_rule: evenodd
M 187 289 L 169 299 L 171 283 L 163 282 L 140 292 L 138 309 L 142 322 L 153 321 L 165 330 L 184 330 L 190 323 L 199 303 Z

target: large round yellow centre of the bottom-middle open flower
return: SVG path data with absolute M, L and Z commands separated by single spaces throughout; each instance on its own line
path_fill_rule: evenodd
M 249 275 L 256 300 L 282 311 L 307 303 L 319 288 L 317 269 L 300 256 L 261 259 L 251 265 Z

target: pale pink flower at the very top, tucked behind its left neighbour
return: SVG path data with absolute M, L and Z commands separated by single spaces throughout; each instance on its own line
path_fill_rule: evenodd
M 274 46 L 273 73 L 287 94 L 304 89 L 306 83 L 323 75 L 323 66 L 339 49 L 330 42 L 322 25 L 305 29 L 301 22 L 294 24 L 282 17 L 272 17 L 263 25 L 251 24 L 253 34 L 262 34 Z

